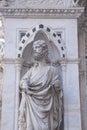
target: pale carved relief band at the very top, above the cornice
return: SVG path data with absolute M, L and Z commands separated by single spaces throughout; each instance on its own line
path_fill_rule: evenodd
M 4 6 L 15 7 L 76 7 L 79 0 L 3 0 Z

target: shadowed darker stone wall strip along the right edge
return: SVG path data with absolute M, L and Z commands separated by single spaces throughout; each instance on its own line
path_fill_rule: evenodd
M 79 71 L 82 130 L 87 130 L 87 1 L 81 2 L 85 6 L 84 14 L 79 19 Z

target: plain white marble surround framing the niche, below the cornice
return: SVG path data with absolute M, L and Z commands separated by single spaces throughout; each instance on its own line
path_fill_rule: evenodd
M 66 59 L 63 61 L 65 64 L 63 68 L 64 130 L 81 130 L 77 19 L 6 18 L 5 22 L 6 44 L 2 99 L 2 130 L 17 130 L 18 93 L 16 92 L 18 92 L 18 82 L 16 82 L 16 76 L 19 73 L 19 79 L 20 71 L 16 68 L 15 60 L 19 46 L 19 31 L 28 31 L 30 28 L 39 24 L 51 27 L 53 30 L 63 31 L 63 41 L 66 47 Z M 6 60 L 9 63 L 6 63 Z M 15 104 L 17 105 L 16 107 Z M 78 108 L 76 108 L 76 105 Z

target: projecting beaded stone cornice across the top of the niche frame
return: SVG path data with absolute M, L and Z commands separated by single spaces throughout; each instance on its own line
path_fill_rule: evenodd
M 0 8 L 0 12 L 7 18 L 78 18 L 83 7 L 62 9 L 29 9 L 29 8 Z

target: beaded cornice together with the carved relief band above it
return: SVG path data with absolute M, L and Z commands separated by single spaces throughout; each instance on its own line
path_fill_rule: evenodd
M 78 2 L 79 0 L 8 0 L 9 5 L 1 8 L 0 12 L 5 17 L 77 18 L 84 12 Z

